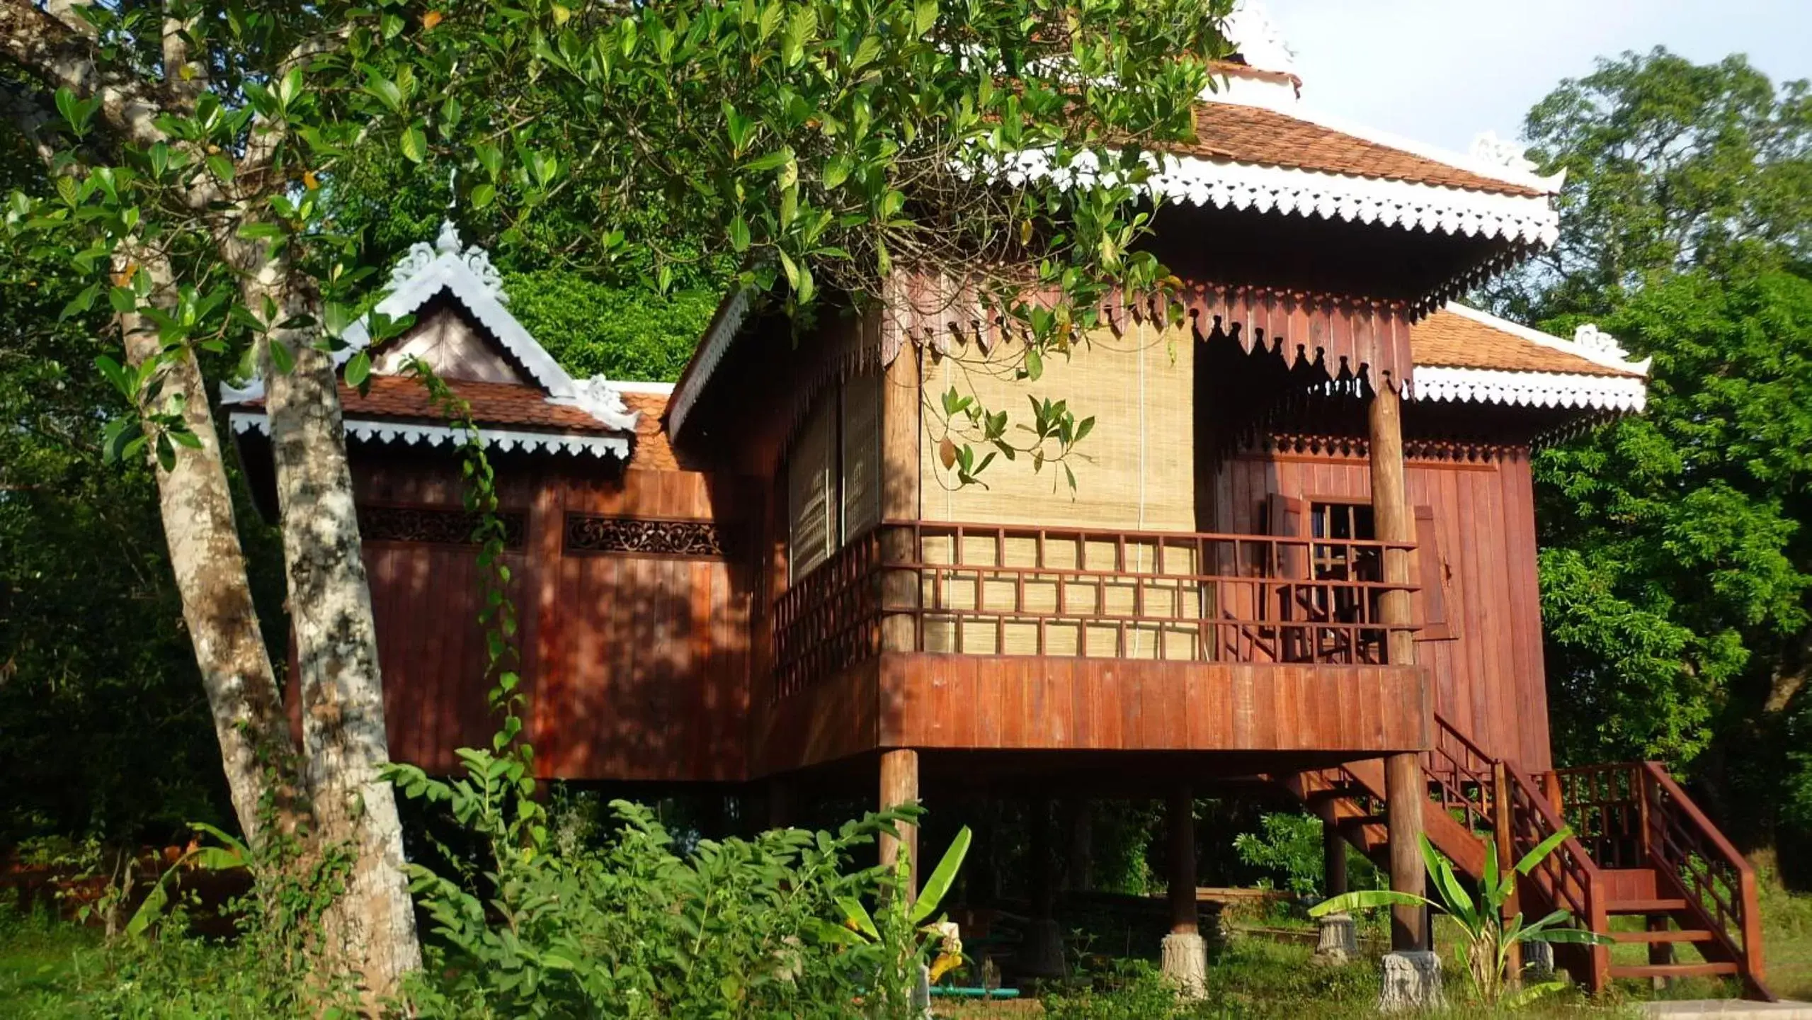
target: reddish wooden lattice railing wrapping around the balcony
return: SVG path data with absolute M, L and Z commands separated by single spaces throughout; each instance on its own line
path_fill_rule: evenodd
M 888 522 L 776 605 L 776 696 L 881 650 L 1384 663 L 1386 549 L 1412 544 Z M 1328 565 L 1335 563 L 1337 569 Z

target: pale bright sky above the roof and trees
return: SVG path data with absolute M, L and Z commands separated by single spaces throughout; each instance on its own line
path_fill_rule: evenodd
M 1743 53 L 1776 82 L 1812 78 L 1812 0 L 1267 0 L 1303 101 L 1466 152 L 1593 58 L 1656 45 L 1709 63 Z

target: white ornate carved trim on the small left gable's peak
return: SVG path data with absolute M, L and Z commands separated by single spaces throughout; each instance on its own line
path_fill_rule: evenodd
M 623 400 L 612 395 L 611 382 L 603 375 L 594 375 L 576 382 L 547 350 L 529 335 L 522 322 L 504 308 L 502 277 L 491 266 L 491 257 L 477 245 L 460 250 L 458 230 L 453 223 L 440 225 L 440 237 L 429 248 L 426 241 L 417 241 L 390 274 L 390 293 L 377 303 L 375 312 L 400 319 L 413 315 L 431 297 L 448 290 L 478 324 L 484 326 L 504 350 L 515 357 L 529 377 L 547 393 L 549 404 L 580 408 L 598 422 L 622 431 L 634 431 L 640 411 L 623 408 Z M 344 335 L 346 346 L 333 351 L 333 366 L 346 364 L 353 353 L 371 342 L 364 321 L 353 322 Z M 221 384 L 221 402 L 245 404 L 265 399 L 265 380 L 255 379 L 246 386 Z

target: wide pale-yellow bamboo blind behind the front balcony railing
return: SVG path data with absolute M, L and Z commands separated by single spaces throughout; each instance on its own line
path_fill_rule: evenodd
M 982 475 L 986 486 L 959 486 L 939 462 L 937 422 L 920 442 L 920 516 L 973 524 L 1033 524 L 1114 531 L 1196 529 L 1194 505 L 1194 339 L 1187 328 L 1131 326 L 1123 335 L 1100 330 L 1071 361 L 1047 359 L 1038 382 L 1017 380 L 1002 366 L 1018 351 L 995 350 L 986 359 L 973 348 L 955 351 L 928 368 L 926 390 L 937 399 L 951 386 L 975 393 L 989 409 L 1006 408 L 1015 422 L 1027 420 L 1027 397 L 1067 400 L 1078 419 L 1094 417 L 1094 429 L 1071 460 L 1076 491 L 1071 496 L 1060 466 L 1033 473 L 1026 457 L 997 458 Z M 930 415 L 926 415 L 930 419 Z M 1026 435 L 1026 433 L 1020 433 Z M 1024 440 L 1018 440 L 1024 442 Z M 957 549 L 948 536 L 926 536 L 926 563 L 1002 567 L 1049 567 L 1102 571 L 1105 574 L 1194 574 L 1201 573 L 1190 549 L 1167 547 L 1158 562 L 1152 540 L 1129 538 L 1125 560 L 1113 542 L 1080 542 L 1049 536 L 1038 558 L 1033 538 L 966 534 Z M 960 556 L 960 558 L 959 558 Z M 1134 605 L 1134 585 L 1113 576 L 1087 583 L 1031 574 L 1018 594 L 1013 574 L 977 582 L 973 574 L 951 583 L 933 583 L 926 571 L 922 605 L 930 611 L 1024 612 L 1044 618 L 1044 654 L 1189 659 L 1200 645 L 1200 623 L 1209 614 L 1201 585 L 1181 576 L 1147 580 L 1143 607 Z M 935 591 L 933 591 L 935 589 Z M 980 589 L 980 591 L 977 591 Z M 1018 600 L 1024 601 L 1018 601 Z M 1075 620 L 1064 620 L 1075 614 Z M 1132 616 L 1122 652 L 1114 627 L 1087 623 L 1084 616 Z M 926 650 L 969 654 L 1038 654 L 1036 618 L 991 621 L 939 620 L 926 616 Z M 1084 630 L 1089 630 L 1084 634 Z

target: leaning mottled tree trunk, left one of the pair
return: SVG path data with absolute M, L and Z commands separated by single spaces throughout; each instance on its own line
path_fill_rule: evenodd
M 123 246 L 116 270 L 130 275 L 143 268 L 152 279 L 152 303 L 161 303 L 170 286 L 170 265 L 158 252 Z M 158 355 L 156 326 L 140 313 L 116 317 L 132 368 Z M 263 799 L 272 794 L 279 819 L 294 812 L 295 748 L 283 712 L 283 694 L 270 650 L 252 605 L 245 551 L 234 524 L 232 491 L 221 458 L 219 433 L 208 406 L 207 382 L 192 350 L 163 370 L 163 399 L 183 400 L 183 419 L 201 440 L 199 449 L 178 449 L 169 471 L 158 466 L 158 509 L 163 538 L 170 549 L 170 573 L 183 600 L 183 623 L 196 650 L 201 687 L 214 716 L 214 736 L 221 745 L 226 788 L 246 842 L 257 846 Z M 143 408 L 161 411 L 165 408 Z M 147 422 L 147 435 L 152 426 Z M 266 783 L 266 768 L 275 770 L 277 786 Z

